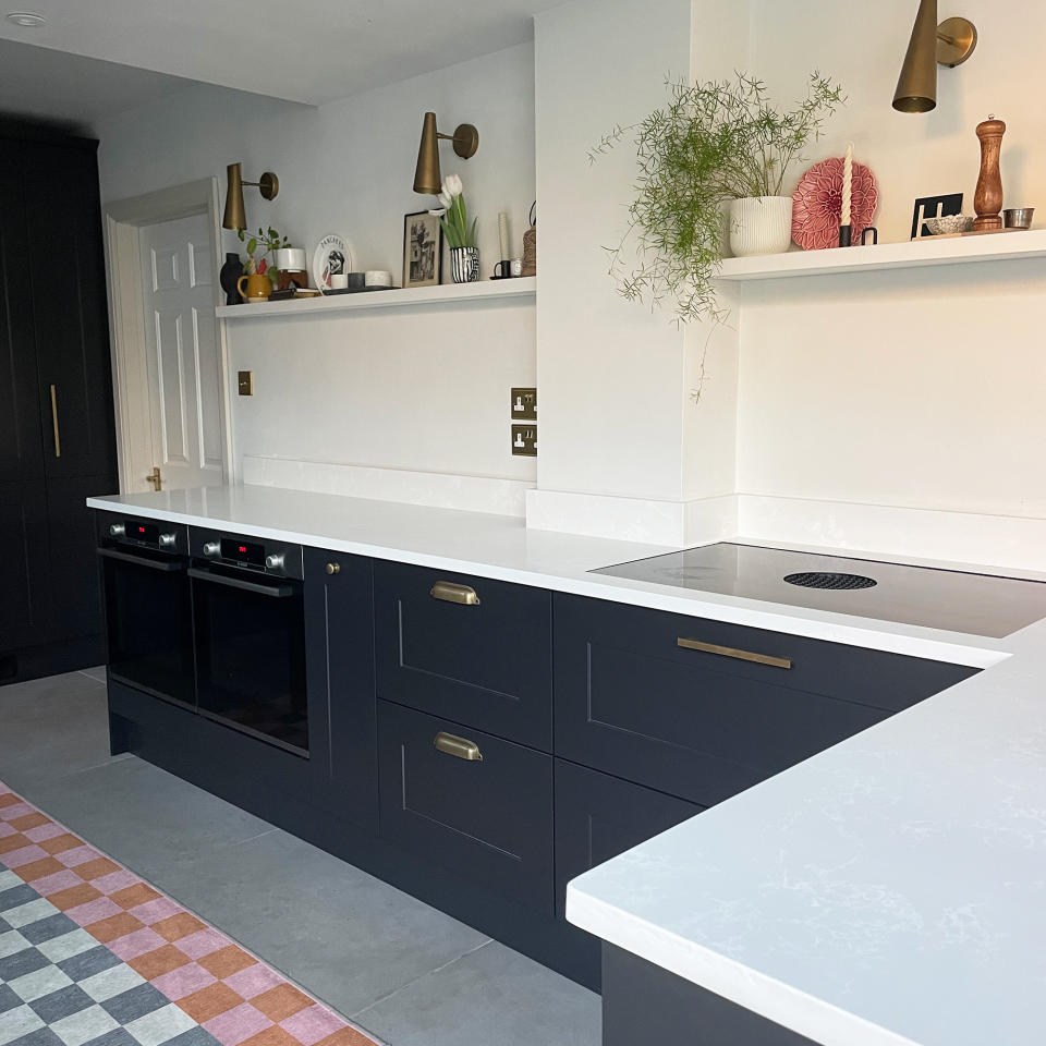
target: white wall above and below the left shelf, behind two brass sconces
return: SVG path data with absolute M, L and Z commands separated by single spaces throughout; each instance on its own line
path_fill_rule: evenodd
M 412 190 L 422 117 L 474 123 L 479 149 L 441 146 L 479 216 L 485 276 L 508 210 L 516 254 L 535 196 L 534 48 L 526 44 L 318 109 L 195 86 L 97 127 L 105 202 L 216 175 L 275 171 L 280 193 L 245 194 L 247 221 L 307 248 L 345 234 L 357 268 L 402 270 L 403 216 L 431 206 Z M 226 233 L 227 250 L 240 250 Z M 445 267 L 445 281 L 449 282 Z M 250 306 L 243 306 L 248 308 Z M 231 368 L 254 369 L 253 399 L 233 397 L 238 475 L 244 455 L 532 481 L 510 453 L 509 389 L 535 379 L 534 306 L 350 312 L 341 318 L 230 324 Z

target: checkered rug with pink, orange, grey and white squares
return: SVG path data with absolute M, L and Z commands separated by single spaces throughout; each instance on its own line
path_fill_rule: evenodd
M 0 1046 L 375 1046 L 0 782 Z

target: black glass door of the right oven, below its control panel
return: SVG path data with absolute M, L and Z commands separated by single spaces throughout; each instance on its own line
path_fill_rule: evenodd
M 190 575 L 199 710 L 307 755 L 301 582 L 220 565 Z

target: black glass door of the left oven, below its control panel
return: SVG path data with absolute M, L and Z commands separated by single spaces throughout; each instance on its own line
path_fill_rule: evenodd
M 187 561 L 146 550 L 98 549 L 110 676 L 194 706 Z

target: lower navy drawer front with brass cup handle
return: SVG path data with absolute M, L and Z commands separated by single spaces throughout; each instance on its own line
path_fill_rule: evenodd
M 447 734 L 482 759 L 438 750 Z M 384 838 L 551 913 L 551 756 L 379 701 L 378 762 Z

